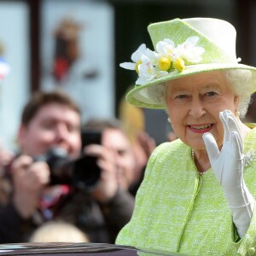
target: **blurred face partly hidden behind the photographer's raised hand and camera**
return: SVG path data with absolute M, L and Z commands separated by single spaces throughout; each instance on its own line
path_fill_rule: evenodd
M 123 189 L 128 189 L 133 182 L 136 165 L 130 141 L 122 131 L 108 128 L 102 134 L 102 145 L 113 152 L 118 183 Z

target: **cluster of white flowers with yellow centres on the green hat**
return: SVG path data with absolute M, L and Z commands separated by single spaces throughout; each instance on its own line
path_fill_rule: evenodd
M 175 47 L 173 41 L 165 38 L 156 44 L 156 51 L 152 51 L 141 44 L 131 55 L 131 61 L 120 63 L 120 67 L 136 70 L 138 79 L 136 84 L 147 84 L 148 82 L 166 76 L 170 70 L 176 69 L 182 72 L 185 61 L 197 63 L 201 61 L 201 54 L 205 49 L 196 47 L 199 38 L 190 37 L 183 44 Z

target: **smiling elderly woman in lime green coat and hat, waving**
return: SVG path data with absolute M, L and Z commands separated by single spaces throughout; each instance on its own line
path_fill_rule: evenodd
M 241 123 L 256 68 L 239 64 L 224 20 L 148 26 L 121 67 L 138 73 L 128 102 L 166 108 L 178 139 L 151 154 L 129 224 L 116 243 L 188 255 L 256 255 L 256 129 Z

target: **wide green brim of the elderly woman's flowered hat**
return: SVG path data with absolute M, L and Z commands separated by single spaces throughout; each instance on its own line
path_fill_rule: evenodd
M 160 99 L 158 99 L 157 96 L 154 96 L 154 93 L 150 93 L 150 90 L 157 90 L 156 86 L 158 84 L 166 83 L 166 81 L 174 79 L 181 79 L 198 73 L 206 73 L 217 70 L 221 71 L 227 69 L 244 69 L 252 71 L 252 79 L 253 81 L 255 81 L 255 83 L 253 84 L 253 90 L 251 91 L 251 93 L 256 91 L 256 67 L 251 67 L 238 63 L 209 63 L 186 66 L 183 72 L 173 70 L 166 76 L 161 77 L 159 79 L 154 79 L 148 84 L 136 84 L 135 87 L 126 95 L 126 100 L 130 102 L 132 105 L 141 108 L 163 109 L 166 108 L 163 102 L 160 101 Z

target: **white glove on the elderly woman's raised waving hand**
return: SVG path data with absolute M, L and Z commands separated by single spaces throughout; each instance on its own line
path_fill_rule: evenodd
M 247 232 L 253 216 L 254 199 L 243 179 L 244 154 L 241 130 L 230 110 L 219 113 L 224 125 L 224 143 L 221 151 L 211 133 L 203 135 L 212 171 L 224 190 L 240 237 Z

